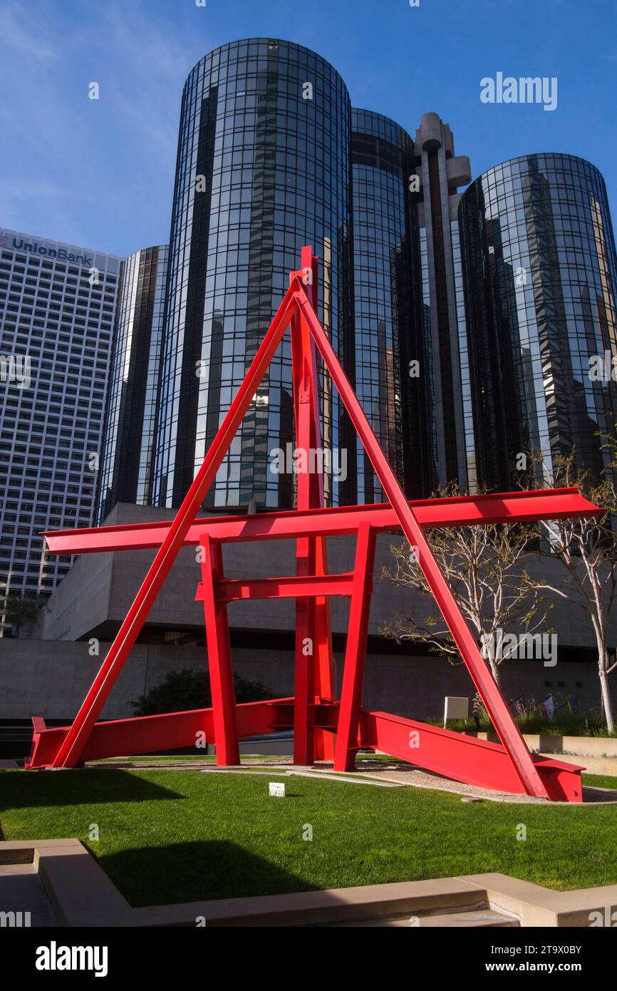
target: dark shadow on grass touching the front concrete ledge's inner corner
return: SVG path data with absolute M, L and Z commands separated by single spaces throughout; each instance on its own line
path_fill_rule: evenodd
M 317 890 L 227 840 L 141 847 L 97 860 L 134 908 Z

